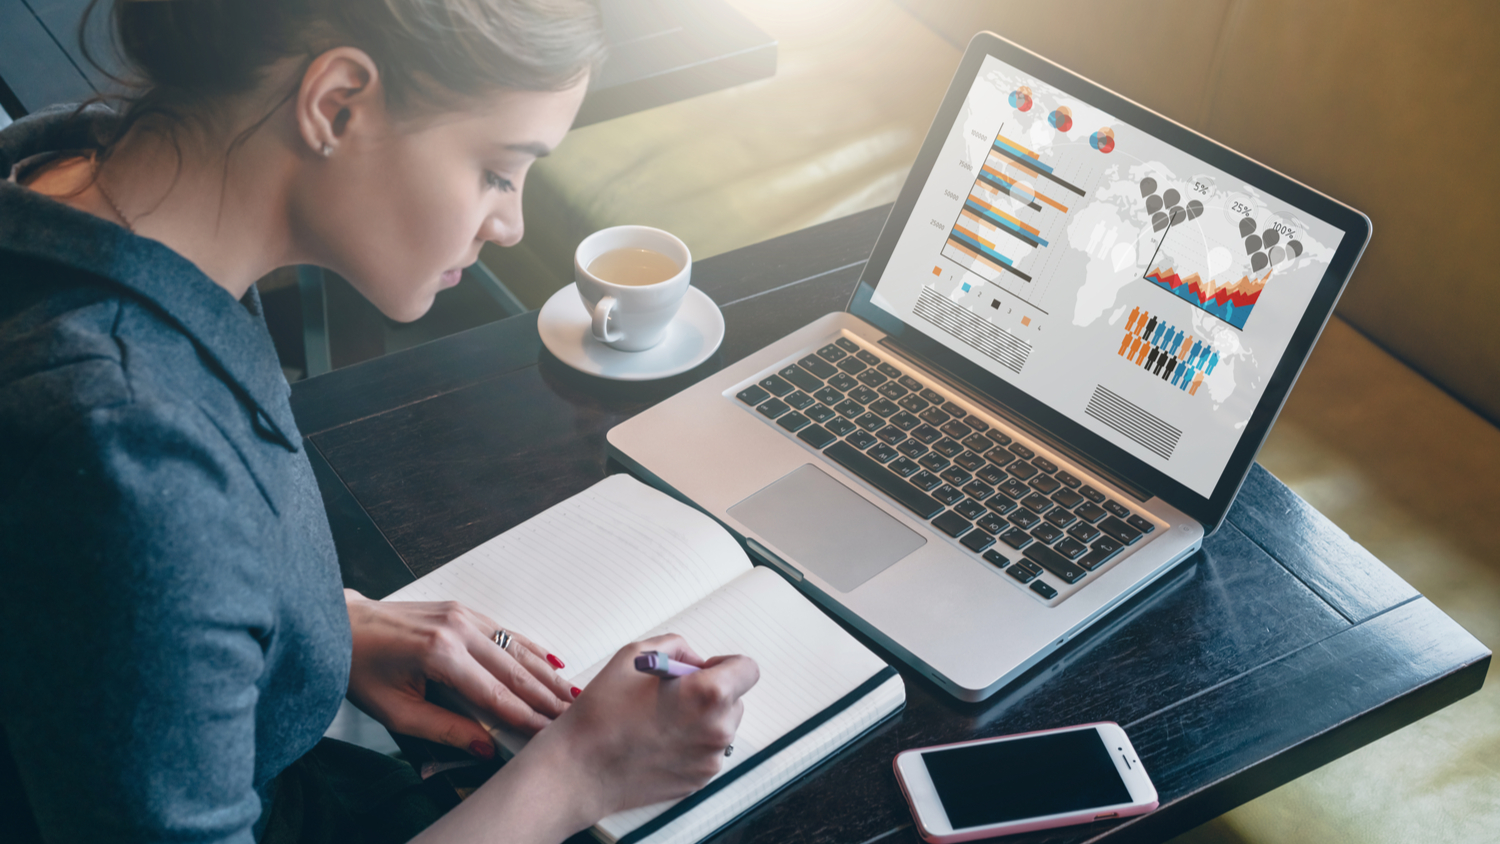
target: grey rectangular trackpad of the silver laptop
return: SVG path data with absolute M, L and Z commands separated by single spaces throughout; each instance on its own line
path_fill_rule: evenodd
M 852 592 L 927 538 L 807 463 L 729 508 L 792 565 Z

